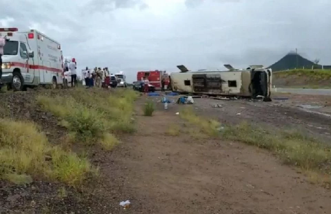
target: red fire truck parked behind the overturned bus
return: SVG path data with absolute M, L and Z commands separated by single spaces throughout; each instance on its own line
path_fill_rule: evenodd
M 149 84 L 153 85 L 156 89 L 161 88 L 161 79 L 162 77 L 165 79 L 164 88 L 168 87 L 169 84 L 169 75 L 166 71 L 139 71 L 137 73 L 137 81 L 144 80 L 148 78 Z

